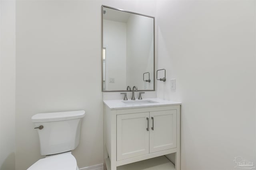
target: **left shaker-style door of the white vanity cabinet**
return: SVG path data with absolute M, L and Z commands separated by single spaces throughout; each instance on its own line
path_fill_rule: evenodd
M 149 112 L 117 115 L 117 160 L 149 153 Z

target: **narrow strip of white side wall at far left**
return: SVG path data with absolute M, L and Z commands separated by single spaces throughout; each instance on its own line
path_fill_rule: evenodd
M 0 1 L 0 170 L 15 169 L 15 1 Z

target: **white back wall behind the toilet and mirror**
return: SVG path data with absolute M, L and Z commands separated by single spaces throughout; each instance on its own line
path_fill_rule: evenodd
M 155 16 L 154 1 L 16 2 L 17 170 L 42 158 L 30 118 L 51 111 L 84 109 L 73 154 L 80 168 L 103 162 L 102 4 Z

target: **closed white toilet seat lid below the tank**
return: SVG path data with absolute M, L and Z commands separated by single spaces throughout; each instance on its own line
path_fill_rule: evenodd
M 76 158 L 72 154 L 60 154 L 42 158 L 28 170 L 76 170 Z

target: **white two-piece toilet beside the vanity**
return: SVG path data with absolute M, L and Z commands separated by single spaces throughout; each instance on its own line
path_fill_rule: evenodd
M 84 110 L 55 113 L 38 113 L 32 122 L 38 131 L 40 153 L 46 155 L 28 170 L 78 170 L 71 150 L 80 141 L 80 129 Z

